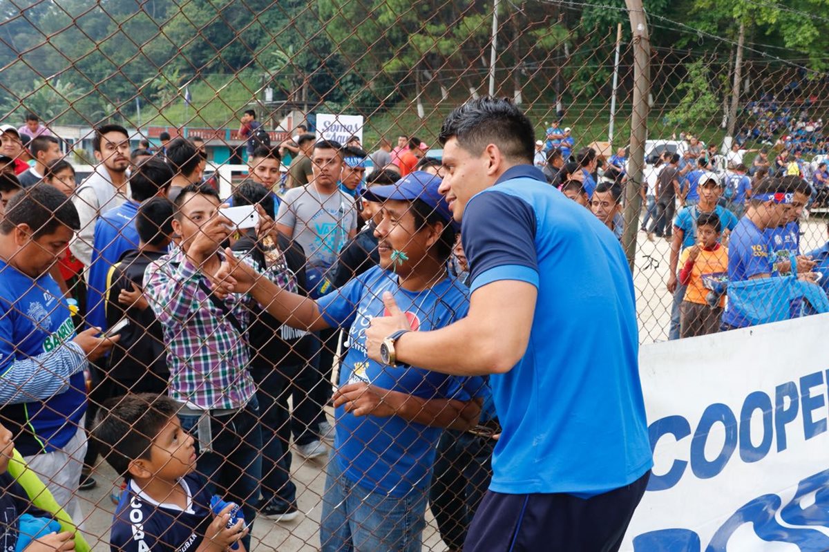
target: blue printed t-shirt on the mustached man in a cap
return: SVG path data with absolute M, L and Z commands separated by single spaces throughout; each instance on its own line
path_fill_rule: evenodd
M 317 304 L 325 321 L 332 327 L 350 328 L 339 385 L 364 381 L 422 399 L 465 401 L 481 396 L 484 382 L 480 377 L 444 375 L 414 366 L 384 366 L 366 356 L 366 328 L 371 317 L 384 316 L 382 297 L 386 291 L 394 294 L 413 330 L 448 326 L 466 316 L 469 307 L 468 288 L 455 278 L 444 278 L 432 288 L 414 293 L 400 288 L 397 275 L 379 266 L 323 295 Z M 337 432 L 333 456 L 351 482 L 393 496 L 429 487 L 442 429 L 399 416 L 356 417 L 343 406 L 334 414 Z

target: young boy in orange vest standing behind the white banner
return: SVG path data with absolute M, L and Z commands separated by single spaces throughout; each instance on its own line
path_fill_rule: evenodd
M 720 328 L 725 297 L 715 307 L 706 301 L 709 290 L 702 283 L 703 274 L 728 271 L 728 250 L 720 244 L 722 223 L 715 213 L 702 213 L 696 219 L 696 244 L 682 251 L 679 280 L 687 286 L 682 301 L 681 337 L 705 336 Z

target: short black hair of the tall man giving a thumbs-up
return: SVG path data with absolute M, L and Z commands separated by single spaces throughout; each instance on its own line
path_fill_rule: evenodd
M 510 99 L 484 96 L 471 99 L 454 109 L 440 128 L 439 142 L 449 138 L 478 155 L 490 143 L 497 143 L 511 161 L 532 162 L 536 153 L 536 134 L 530 119 Z

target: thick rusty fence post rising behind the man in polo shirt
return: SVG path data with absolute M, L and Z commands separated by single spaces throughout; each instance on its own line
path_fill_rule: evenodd
M 647 138 L 647 94 L 651 90 L 651 43 L 647 33 L 642 0 L 625 0 L 630 27 L 633 31 L 633 114 L 630 121 L 630 162 L 628 183 L 625 187 L 624 235 L 622 244 L 628 265 L 633 272 L 636 259 L 636 238 L 639 231 L 639 212 L 645 167 L 645 139 Z

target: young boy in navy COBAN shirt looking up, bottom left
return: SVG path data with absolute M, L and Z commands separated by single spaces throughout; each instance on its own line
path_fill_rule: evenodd
M 228 504 L 213 516 L 211 496 L 195 471 L 196 447 L 178 420 L 179 405 L 143 393 L 109 399 L 94 435 L 104 459 L 127 487 L 115 509 L 112 552 L 224 552 L 247 535 L 245 522 L 228 526 Z M 238 548 L 237 548 L 238 547 Z

